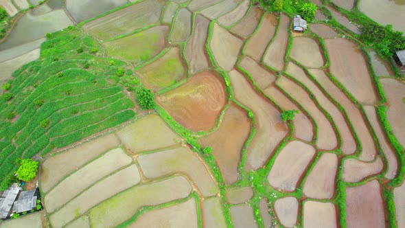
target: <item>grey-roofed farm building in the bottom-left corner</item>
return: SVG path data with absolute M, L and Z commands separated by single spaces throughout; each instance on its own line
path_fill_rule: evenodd
M 0 218 L 8 218 L 12 213 L 31 211 L 36 208 L 37 198 L 36 189 L 21 192 L 21 187 L 14 183 L 0 198 Z

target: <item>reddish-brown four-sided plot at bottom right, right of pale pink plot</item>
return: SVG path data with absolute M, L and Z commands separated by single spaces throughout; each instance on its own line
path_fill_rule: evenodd
M 385 227 L 378 181 L 346 188 L 346 225 L 347 227 Z

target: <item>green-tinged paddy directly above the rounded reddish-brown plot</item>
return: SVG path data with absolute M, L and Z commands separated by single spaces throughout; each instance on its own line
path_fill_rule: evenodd
M 178 47 L 172 47 L 154 62 L 141 67 L 137 71 L 139 79 L 146 87 L 156 92 L 176 84 L 185 73 Z

